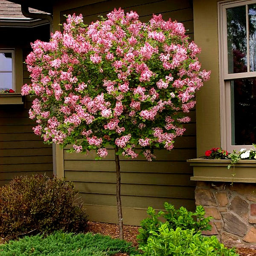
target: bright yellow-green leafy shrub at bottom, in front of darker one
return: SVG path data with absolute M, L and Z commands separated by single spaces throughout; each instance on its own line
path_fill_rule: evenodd
M 150 231 L 147 244 L 139 249 L 144 252 L 143 256 L 238 256 L 234 249 L 224 247 L 216 236 L 204 237 L 195 229 L 169 229 L 167 223 L 161 224 L 157 232 Z

